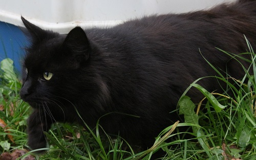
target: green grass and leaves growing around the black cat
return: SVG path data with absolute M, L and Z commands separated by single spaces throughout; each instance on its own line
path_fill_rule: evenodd
M 225 53 L 240 59 L 239 56 Z M 139 149 L 132 148 L 120 137 L 111 139 L 107 134 L 100 135 L 100 123 L 93 130 L 76 124 L 58 123 L 45 133 L 49 146 L 42 149 L 46 150 L 42 155 L 29 151 L 27 146 L 26 120 L 31 108 L 19 98 L 22 85 L 14 72 L 12 61 L 4 59 L 0 65 L 0 153 L 19 149 L 26 152 L 19 159 L 34 155 L 35 159 L 128 160 L 151 159 L 157 150 L 164 150 L 166 155 L 162 159 L 256 159 L 256 56 L 251 48 L 249 54 L 254 75 L 245 70 L 242 80 L 221 74 L 216 77 L 228 84 L 234 96 L 208 93 L 196 83 L 198 79 L 188 89 L 199 89 L 206 97 L 203 100 L 205 105 L 191 102 L 185 96 L 187 89 L 178 107 L 186 123 L 177 122 L 165 128 L 156 138 L 154 146 L 146 151 L 137 153 Z M 217 68 L 215 70 L 218 72 Z M 181 126 L 191 127 L 193 131 L 173 133 Z M 193 138 L 184 139 L 184 134 L 191 134 Z M 165 141 L 171 138 L 172 141 Z

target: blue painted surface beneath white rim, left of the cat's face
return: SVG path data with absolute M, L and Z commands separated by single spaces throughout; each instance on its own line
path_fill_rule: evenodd
M 0 21 L 0 61 L 11 58 L 17 72 L 20 72 L 27 45 L 28 39 L 17 26 Z

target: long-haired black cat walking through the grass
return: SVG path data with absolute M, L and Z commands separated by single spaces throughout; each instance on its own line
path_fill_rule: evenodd
M 241 65 L 216 47 L 246 52 L 245 35 L 256 49 L 256 1 L 249 0 L 206 11 L 145 16 L 112 28 L 76 27 L 67 35 L 22 20 L 31 45 L 20 97 L 34 108 L 28 120 L 32 149 L 46 146 L 43 131 L 56 121 L 83 124 L 76 109 L 92 128 L 110 113 L 100 119 L 107 133 L 150 147 L 163 128 L 179 120 L 176 112 L 169 112 L 189 84 L 218 75 L 204 57 L 239 79 L 244 76 Z M 223 92 L 215 78 L 199 83 L 209 92 Z M 188 96 L 194 102 L 202 98 L 196 89 Z

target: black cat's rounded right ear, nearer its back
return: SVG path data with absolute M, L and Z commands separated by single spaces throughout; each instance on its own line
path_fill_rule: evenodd
M 89 58 L 90 44 L 86 33 L 80 27 L 75 27 L 68 33 L 63 47 L 78 61 L 86 61 Z

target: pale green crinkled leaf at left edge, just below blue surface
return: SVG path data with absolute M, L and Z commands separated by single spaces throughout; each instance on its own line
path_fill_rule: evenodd
M 0 63 L 0 68 L 3 70 L 3 78 L 9 83 L 18 81 L 14 72 L 13 61 L 10 58 L 2 60 Z

